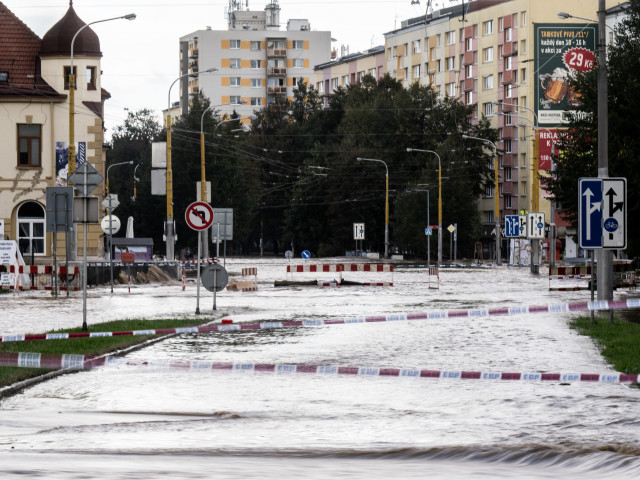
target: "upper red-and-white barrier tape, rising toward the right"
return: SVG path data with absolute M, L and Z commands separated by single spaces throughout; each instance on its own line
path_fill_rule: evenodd
M 200 327 L 162 328 L 157 330 L 129 330 L 123 332 L 73 332 L 5 335 L 0 342 L 22 342 L 27 340 L 61 340 L 68 338 L 110 337 L 117 335 L 167 335 L 173 333 L 227 332 L 237 330 L 266 330 L 287 327 L 320 327 L 324 325 L 346 325 L 351 323 L 397 322 L 442 318 L 482 318 L 491 316 L 524 315 L 527 313 L 567 313 L 583 311 L 621 310 L 640 308 L 640 298 L 626 300 L 597 300 L 595 302 L 573 302 L 547 305 L 522 305 L 497 308 L 473 308 L 468 310 L 434 310 L 416 313 L 391 313 L 371 317 L 328 318 L 324 320 L 286 320 L 259 323 L 204 325 Z

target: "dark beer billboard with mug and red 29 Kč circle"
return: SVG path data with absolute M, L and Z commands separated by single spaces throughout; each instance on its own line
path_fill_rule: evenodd
M 580 94 L 569 87 L 569 77 L 593 68 L 596 61 L 598 26 L 589 24 L 544 24 L 534 26 L 535 110 L 538 125 L 567 123 L 565 110 L 580 110 Z

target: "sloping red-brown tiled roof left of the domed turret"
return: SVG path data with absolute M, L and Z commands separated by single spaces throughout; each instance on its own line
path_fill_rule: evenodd
M 63 99 L 40 76 L 40 37 L 0 2 L 0 97 Z

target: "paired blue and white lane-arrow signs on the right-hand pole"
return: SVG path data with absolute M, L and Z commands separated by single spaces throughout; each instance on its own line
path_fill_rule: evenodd
M 584 249 L 627 247 L 627 179 L 578 181 L 579 245 Z

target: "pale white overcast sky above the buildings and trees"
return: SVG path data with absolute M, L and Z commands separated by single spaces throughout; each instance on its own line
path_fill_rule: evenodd
M 243 4 L 247 0 L 242 0 Z M 250 10 L 264 10 L 268 0 L 248 0 Z M 40 38 L 69 8 L 68 0 L 2 0 Z M 330 31 L 350 53 L 384 44 L 384 33 L 400 28 L 403 20 L 424 15 L 427 0 L 280 0 L 281 30 L 289 19 L 306 18 L 312 30 Z M 434 9 L 459 0 L 431 0 Z M 133 21 L 115 20 L 92 25 L 102 50 L 102 86 L 111 94 L 105 102 L 106 137 L 122 124 L 127 112 L 148 108 L 161 118 L 169 87 L 180 75 L 179 40 L 211 26 L 226 30 L 228 0 L 74 0 L 73 8 L 91 23 L 128 13 Z M 177 85 L 171 101 L 178 100 Z M 128 109 L 128 110 L 127 110 Z

